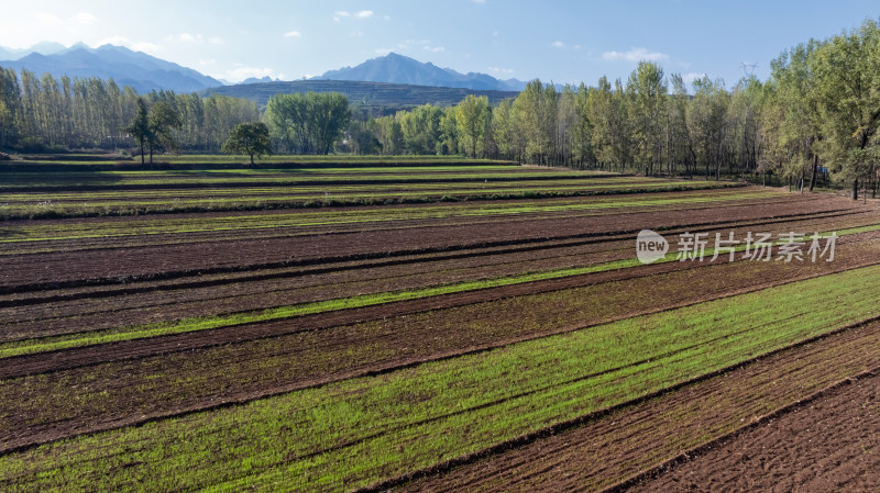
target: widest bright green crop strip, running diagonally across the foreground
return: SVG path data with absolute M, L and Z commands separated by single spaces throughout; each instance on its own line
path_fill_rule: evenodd
M 877 314 L 880 267 L 59 440 L 15 491 L 338 491 L 625 403 Z

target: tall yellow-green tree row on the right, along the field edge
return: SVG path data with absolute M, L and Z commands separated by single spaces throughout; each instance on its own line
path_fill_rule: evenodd
M 877 189 L 880 27 L 811 40 L 771 63 L 767 81 L 689 85 L 641 61 L 626 81 L 558 90 L 529 82 L 492 108 L 466 97 L 354 121 L 351 150 L 463 154 L 539 165 L 638 170 L 706 178 L 769 175 L 800 187 L 834 178 Z

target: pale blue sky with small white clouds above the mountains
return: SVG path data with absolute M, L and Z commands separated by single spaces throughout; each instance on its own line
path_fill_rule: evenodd
M 4 3 L 0 46 L 112 43 L 231 81 L 298 79 L 394 51 L 462 72 L 587 85 L 650 59 L 732 86 L 744 63 L 766 79 L 785 48 L 880 18 L 876 0 Z

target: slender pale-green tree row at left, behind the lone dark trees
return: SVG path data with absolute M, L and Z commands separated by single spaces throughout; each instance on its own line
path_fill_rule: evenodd
M 202 98 L 173 91 L 142 96 L 112 79 L 56 79 L 28 70 L 19 78 L 14 70 L 0 67 L 0 148 L 41 152 L 136 145 L 155 152 L 217 153 L 235 125 L 261 117 L 252 101 L 227 96 Z M 162 135 L 147 138 L 150 119 Z M 131 133 L 135 123 L 142 124 L 144 142 L 136 130 Z

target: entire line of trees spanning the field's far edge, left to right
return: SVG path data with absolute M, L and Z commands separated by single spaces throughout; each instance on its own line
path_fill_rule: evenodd
M 438 154 L 705 178 L 760 173 L 812 189 L 834 178 L 877 187 L 880 27 L 873 20 L 811 40 L 771 63 L 767 81 L 689 83 L 641 61 L 622 81 L 557 89 L 529 82 L 493 108 L 468 96 L 394 115 L 358 116 L 339 93 L 276 94 L 264 111 L 222 96 L 153 91 L 112 80 L 21 79 L 0 69 L 0 147 L 220 152 L 238 125 L 289 154 Z M 690 88 L 689 88 L 690 86 Z M 151 126 L 152 125 L 152 126 Z M 266 134 L 265 136 L 263 134 Z M 254 134 L 256 135 L 256 134 Z M 266 141 L 264 137 L 267 137 Z M 262 144 L 261 144 L 262 145 Z M 227 149 L 237 147 L 228 145 Z M 250 153 L 249 153 L 250 154 Z

